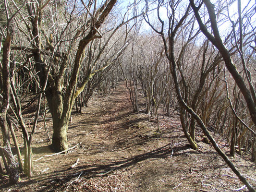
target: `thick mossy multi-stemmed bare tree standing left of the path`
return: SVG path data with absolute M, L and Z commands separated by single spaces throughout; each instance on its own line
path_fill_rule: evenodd
M 102 37 L 98 29 L 104 23 L 115 3 L 116 0 L 106 0 L 97 9 L 97 1 L 89 1 L 87 4 L 83 0 L 80 3 L 78 1 L 67 1 L 67 9 L 64 10 L 66 23 L 64 23 L 64 27 L 60 32 L 59 29 L 56 29 L 56 35 L 53 36 L 50 33 L 49 37 L 45 36 L 47 32 L 43 32 L 45 30 L 45 25 L 42 24 L 43 14 L 47 13 L 47 11 L 43 12 L 43 10 L 46 7 L 51 8 L 51 6 L 61 9 L 61 6 L 55 1 L 48 0 L 43 2 L 40 0 L 38 4 L 37 1 L 31 1 L 26 4 L 29 21 L 21 15 L 22 22 L 29 34 L 27 38 L 32 47 L 13 46 L 12 49 L 28 50 L 32 53 L 31 56 L 35 61 L 41 87 L 46 84 L 47 80 L 45 95 L 53 119 L 52 147 L 56 151 L 68 148 L 66 131 L 75 98 L 84 90 L 90 78 L 111 64 L 111 60 L 107 60 L 105 65 L 98 69 L 95 69 L 96 63 L 91 65 L 80 86 L 76 87 L 81 64 L 85 56 L 85 47 L 94 39 Z M 48 13 L 50 13 L 53 9 L 48 10 Z M 58 10 L 56 14 L 59 12 L 61 10 Z M 79 21 L 79 18 L 82 20 Z M 73 28 L 74 21 L 80 22 L 81 26 L 78 29 Z M 57 21 L 55 20 L 54 22 Z M 18 27 L 22 30 L 21 25 Z M 49 29 L 46 28 L 46 30 Z M 45 37 L 46 46 L 43 45 L 43 37 Z M 77 40 L 79 41 L 76 43 Z M 68 48 L 62 47 L 65 42 L 68 43 Z M 78 46 L 77 50 L 72 52 L 76 45 Z M 73 64 L 69 66 L 71 62 Z M 68 79 L 66 78 L 67 70 L 71 72 Z M 67 86 L 64 81 L 69 82 Z M 65 91 L 65 94 L 63 94 L 63 91 Z

